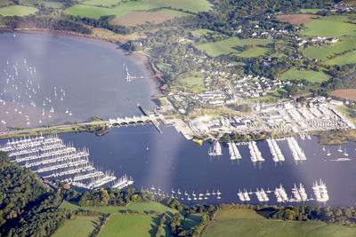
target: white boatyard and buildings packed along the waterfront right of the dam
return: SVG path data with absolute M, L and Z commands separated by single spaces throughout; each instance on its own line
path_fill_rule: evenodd
M 276 131 L 304 136 L 306 131 L 311 130 L 355 129 L 354 124 L 337 111 L 336 105 L 340 102 L 318 97 L 303 103 L 289 100 L 270 106 L 256 106 L 248 115 L 202 115 L 190 119 L 190 135 Z

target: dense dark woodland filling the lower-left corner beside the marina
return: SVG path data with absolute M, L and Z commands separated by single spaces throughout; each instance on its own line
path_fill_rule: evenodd
M 0 235 L 48 236 L 69 212 L 58 209 L 60 193 L 48 193 L 38 176 L 0 152 Z

